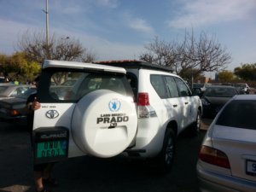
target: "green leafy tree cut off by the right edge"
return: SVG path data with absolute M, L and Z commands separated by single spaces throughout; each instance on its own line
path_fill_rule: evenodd
M 236 67 L 234 73 L 237 77 L 244 80 L 256 80 L 256 63 L 254 64 L 242 64 L 241 67 Z

